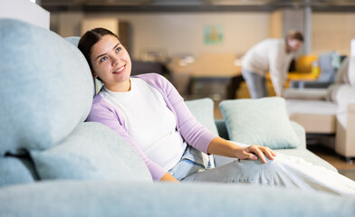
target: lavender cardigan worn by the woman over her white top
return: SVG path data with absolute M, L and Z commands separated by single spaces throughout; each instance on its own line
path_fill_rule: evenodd
M 184 99 L 178 94 L 174 86 L 167 79 L 155 73 L 141 74 L 135 77 L 147 81 L 160 92 L 168 105 L 168 109 L 170 109 L 177 118 L 177 131 L 180 133 L 181 137 L 184 138 L 188 145 L 194 146 L 197 150 L 207 154 L 209 143 L 217 136 L 197 122 L 196 118 L 191 114 L 189 109 L 187 109 Z M 86 121 L 100 122 L 125 138 L 130 145 L 139 152 L 139 155 L 149 167 L 153 180 L 160 180 L 163 175 L 168 173 L 168 171 L 151 161 L 143 153 L 141 148 L 130 137 L 125 127 L 125 119 L 120 114 L 120 111 L 115 109 L 110 102 L 103 99 L 101 94 L 97 94 L 94 97 L 91 112 Z

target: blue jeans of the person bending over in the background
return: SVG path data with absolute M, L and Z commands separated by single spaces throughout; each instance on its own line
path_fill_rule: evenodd
M 242 69 L 243 78 L 248 87 L 250 97 L 253 99 L 267 97 L 266 79 L 264 76 L 254 73 L 253 71 Z

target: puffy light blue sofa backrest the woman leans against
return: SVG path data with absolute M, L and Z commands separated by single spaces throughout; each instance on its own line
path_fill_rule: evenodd
M 37 179 L 151 181 L 127 141 L 84 122 L 93 80 L 76 46 L 41 27 L 0 19 L 0 47 L 0 186 Z

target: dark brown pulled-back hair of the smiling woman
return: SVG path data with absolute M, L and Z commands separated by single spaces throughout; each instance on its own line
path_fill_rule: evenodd
M 78 48 L 84 55 L 86 61 L 88 61 L 91 72 L 92 72 L 91 48 L 95 43 L 101 40 L 102 36 L 107 34 L 115 36 L 117 39 L 119 39 L 119 36 L 117 36 L 115 33 L 110 32 L 110 30 L 104 28 L 95 28 L 84 33 L 78 43 Z

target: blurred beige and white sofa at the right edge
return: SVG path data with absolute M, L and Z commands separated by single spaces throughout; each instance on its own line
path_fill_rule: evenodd
M 350 70 L 354 58 L 341 62 L 335 82 L 328 88 L 284 93 L 290 119 L 348 161 L 355 157 L 355 68 Z

